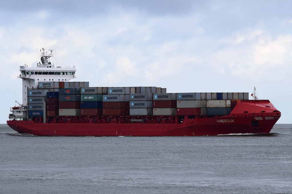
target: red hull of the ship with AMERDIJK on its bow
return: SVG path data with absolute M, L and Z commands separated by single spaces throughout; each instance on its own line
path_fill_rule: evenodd
M 264 112 L 262 112 L 264 111 Z M 244 113 L 246 112 L 246 113 Z M 242 100 L 227 116 L 196 117 L 182 123 L 35 123 L 7 121 L 19 133 L 40 136 L 196 136 L 270 133 L 281 113 L 267 101 Z

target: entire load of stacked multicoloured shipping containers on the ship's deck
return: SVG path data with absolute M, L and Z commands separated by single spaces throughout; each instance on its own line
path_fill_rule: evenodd
M 166 93 L 160 87 L 89 87 L 89 82 L 39 82 L 29 89 L 29 117 L 222 116 L 248 93 Z M 88 116 L 88 117 L 87 117 Z M 191 118 L 191 117 L 190 117 Z

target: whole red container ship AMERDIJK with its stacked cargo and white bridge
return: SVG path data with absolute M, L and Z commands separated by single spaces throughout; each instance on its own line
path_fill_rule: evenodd
M 48 53 L 49 52 L 49 53 Z M 161 87 L 89 87 L 76 68 L 55 66 L 53 50 L 20 66 L 22 103 L 8 126 L 39 136 L 197 136 L 270 133 L 281 116 L 246 92 L 167 93 Z

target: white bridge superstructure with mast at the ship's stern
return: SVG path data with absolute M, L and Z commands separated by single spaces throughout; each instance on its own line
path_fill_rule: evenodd
M 46 52 L 45 48 L 42 48 L 41 62 L 36 64 L 36 67 L 20 66 L 19 78 L 22 79 L 22 104 L 27 106 L 27 89 L 37 88 L 39 82 L 69 82 L 69 80 L 76 78 L 76 68 L 54 65 L 50 61 L 50 57 L 53 57 L 53 50 L 50 53 Z

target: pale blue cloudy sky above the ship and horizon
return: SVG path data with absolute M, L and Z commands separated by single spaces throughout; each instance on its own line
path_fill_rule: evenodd
M 3 1 L 0 123 L 40 49 L 91 87 L 251 92 L 291 121 L 292 1 Z M 54 59 L 55 60 L 55 59 Z

